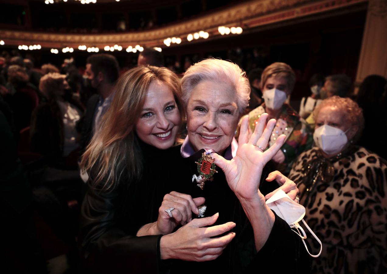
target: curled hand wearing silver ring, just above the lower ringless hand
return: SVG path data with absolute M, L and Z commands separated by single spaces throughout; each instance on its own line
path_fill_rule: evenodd
M 192 221 L 192 212 L 199 214 L 199 209 L 197 208 L 205 202 L 203 197 L 198 197 L 192 199 L 190 195 L 182 194 L 179 192 L 172 191 L 170 194 L 164 196 L 161 207 L 159 208 L 159 217 L 156 222 L 156 229 L 158 234 L 169 234 L 176 228 L 179 224 L 182 226 Z M 174 207 L 171 214 L 171 218 L 165 209 Z

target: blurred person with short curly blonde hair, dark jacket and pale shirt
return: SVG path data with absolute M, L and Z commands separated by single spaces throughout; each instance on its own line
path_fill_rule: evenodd
M 31 151 L 57 163 L 79 146 L 75 123 L 82 112 L 71 98 L 65 100 L 69 88 L 65 75 L 56 72 L 44 75 L 39 89 L 47 103 L 39 104 L 31 118 Z

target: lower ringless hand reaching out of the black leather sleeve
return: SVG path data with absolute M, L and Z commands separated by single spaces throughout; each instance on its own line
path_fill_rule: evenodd
M 179 228 L 176 232 L 161 237 L 161 259 L 180 259 L 186 261 L 209 261 L 222 254 L 224 248 L 235 237 L 234 232 L 221 235 L 235 227 L 235 223 L 228 222 L 217 226 L 214 224 L 219 213 L 211 217 L 193 219 Z M 210 227 L 204 227 L 210 226 Z

